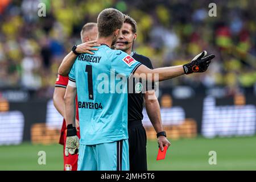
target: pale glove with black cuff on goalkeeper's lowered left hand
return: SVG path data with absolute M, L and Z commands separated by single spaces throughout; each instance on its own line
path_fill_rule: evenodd
M 76 127 L 72 125 L 67 126 L 67 139 L 65 146 L 65 156 L 68 154 L 78 154 L 79 152 L 79 138 L 76 135 Z

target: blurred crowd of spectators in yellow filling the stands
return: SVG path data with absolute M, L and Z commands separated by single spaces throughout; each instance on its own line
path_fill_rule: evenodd
M 46 16 L 39 11 L 45 5 Z M 200 53 L 216 55 L 203 74 L 181 76 L 160 84 L 227 87 L 231 93 L 256 82 L 256 1 L 214 1 L 217 16 L 209 16 L 211 1 L 138 0 L 1 0 L 0 88 L 34 90 L 51 97 L 57 69 L 80 30 L 96 22 L 106 7 L 137 21 L 134 50 L 150 57 L 155 68 L 185 64 Z

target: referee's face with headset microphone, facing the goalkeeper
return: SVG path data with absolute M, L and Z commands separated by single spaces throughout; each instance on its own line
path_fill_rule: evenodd
M 123 23 L 117 42 L 115 43 L 115 49 L 130 53 L 134 38 L 136 38 L 136 34 L 133 34 L 131 24 Z M 125 42 L 128 43 L 126 44 Z

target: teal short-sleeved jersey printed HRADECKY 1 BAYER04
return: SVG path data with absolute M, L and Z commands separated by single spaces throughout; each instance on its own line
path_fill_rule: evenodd
M 141 63 L 105 44 L 94 55 L 77 56 L 69 81 L 77 88 L 80 143 L 127 139 L 127 78 Z M 75 83 L 74 83 L 75 82 Z

